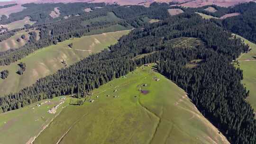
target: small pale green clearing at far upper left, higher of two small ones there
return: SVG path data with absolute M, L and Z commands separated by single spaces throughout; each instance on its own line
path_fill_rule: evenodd
M 7 27 L 9 30 L 13 30 L 13 29 L 16 29 L 16 28 L 22 28 L 26 24 L 33 25 L 35 23 L 36 22 L 34 22 L 34 21 L 30 21 L 29 17 L 25 17 L 22 20 L 17 20 L 17 21 L 14 21 L 12 23 L 6 24 L 6 25 L 4 25 L 4 27 Z

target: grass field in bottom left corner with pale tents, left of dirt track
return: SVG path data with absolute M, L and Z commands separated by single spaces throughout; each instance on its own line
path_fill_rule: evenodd
M 49 114 L 47 111 L 58 105 L 62 101 L 60 98 L 42 100 L 25 108 L 1 113 L 0 144 L 26 144 L 33 140 L 59 114 L 62 107 L 68 106 L 69 103 L 65 102 L 57 108 L 55 114 Z M 50 102 L 44 103 L 48 100 Z M 44 104 L 36 106 L 39 103 Z

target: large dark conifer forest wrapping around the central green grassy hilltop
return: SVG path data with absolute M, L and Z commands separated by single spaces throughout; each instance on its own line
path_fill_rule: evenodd
M 172 48 L 168 40 L 177 37 L 200 38 L 196 48 Z M 0 98 L 3 111 L 24 107 L 40 99 L 90 91 L 133 71 L 137 65 L 159 61 L 158 70 L 189 93 L 201 113 L 223 132 L 232 144 L 255 144 L 256 121 L 245 101 L 242 71 L 230 62 L 248 46 L 240 39 L 196 14 L 182 14 L 133 30 L 119 43 L 61 69 L 18 93 Z M 155 52 L 155 53 L 152 53 Z M 144 58 L 133 60 L 139 54 Z M 201 59 L 195 68 L 186 68 Z

